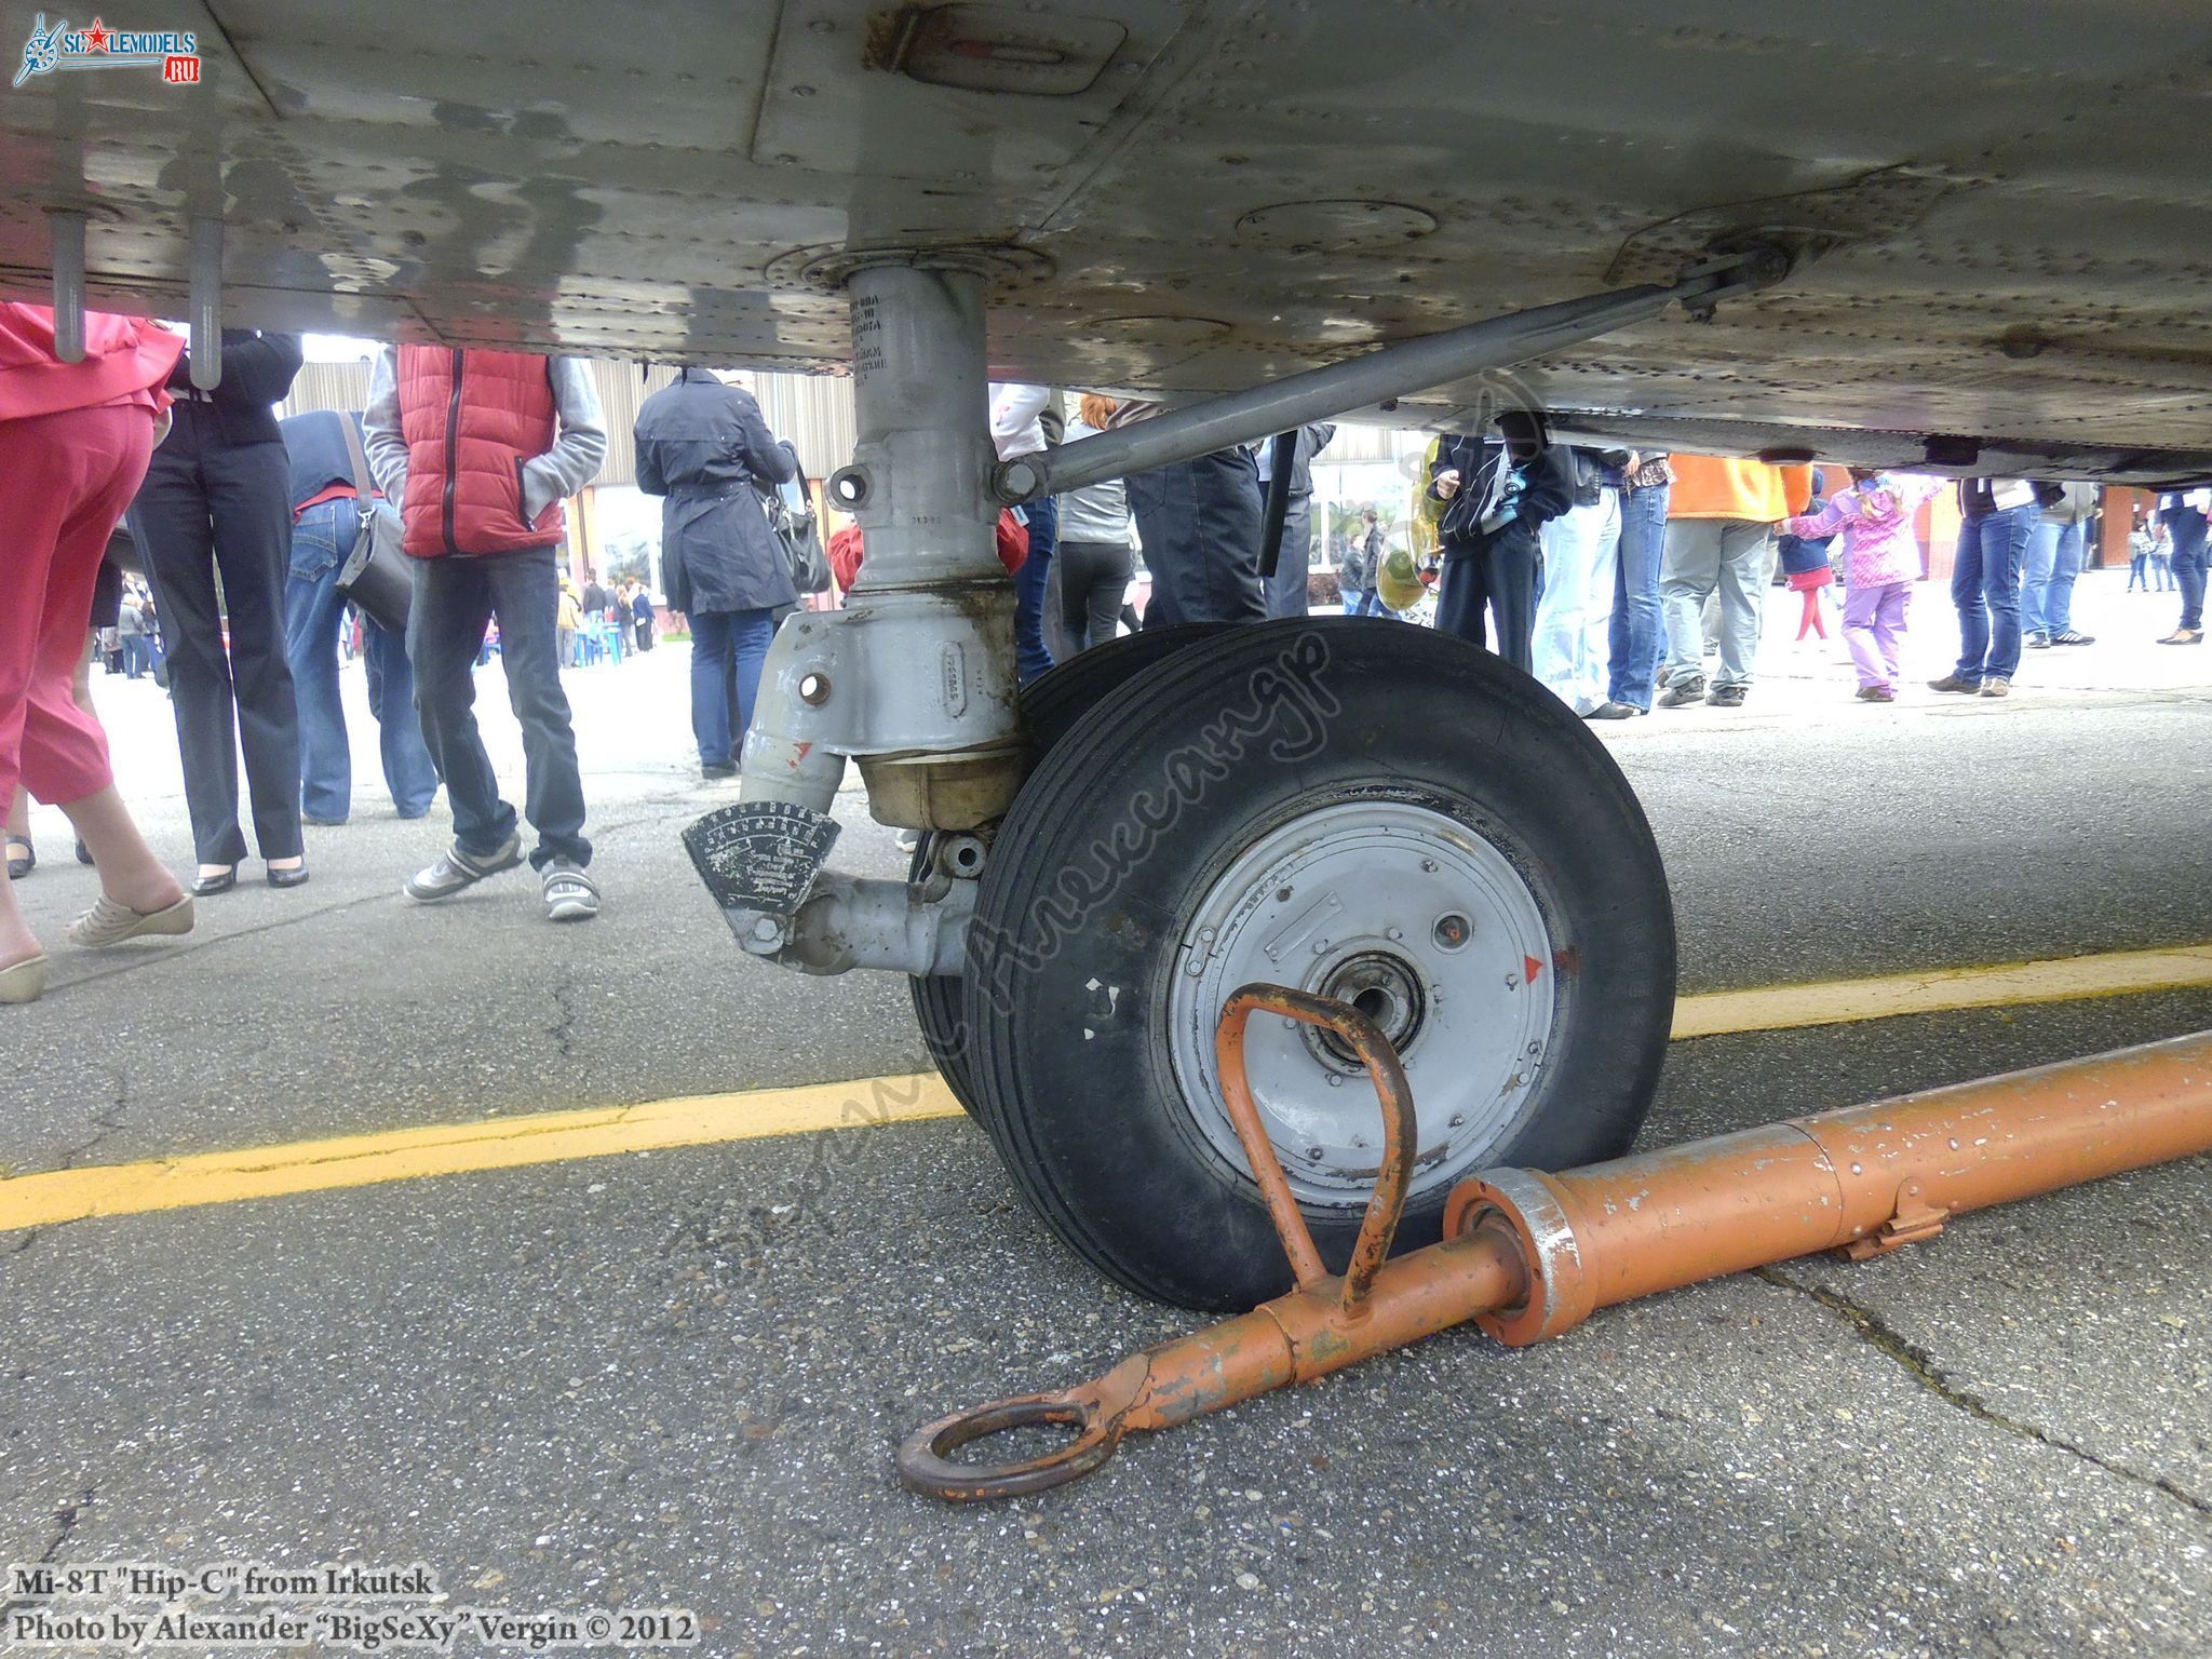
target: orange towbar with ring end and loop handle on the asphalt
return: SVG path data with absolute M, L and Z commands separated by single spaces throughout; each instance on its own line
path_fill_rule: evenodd
M 1367 1062 L 1383 1104 L 1383 1172 L 1340 1279 L 1314 1250 L 1252 1104 L 1243 1026 L 1254 1011 L 1332 1026 Z M 2212 1033 L 2199 1033 L 1564 1175 L 1486 1170 L 1453 1190 L 1442 1243 L 1387 1261 L 1416 1152 L 1413 1102 L 1389 1042 L 1343 1002 L 1248 984 L 1223 1006 L 1214 1051 L 1296 1290 L 1079 1387 L 916 1429 L 898 1449 L 909 1486 L 962 1500 L 1044 1491 L 1097 1469 L 1130 1431 L 1188 1422 L 1469 1318 L 1502 1343 L 1537 1343 L 1659 1290 L 1818 1250 L 1882 1254 L 1969 1210 L 2212 1150 Z M 995 1469 L 949 1458 L 1033 1425 L 1075 1438 Z

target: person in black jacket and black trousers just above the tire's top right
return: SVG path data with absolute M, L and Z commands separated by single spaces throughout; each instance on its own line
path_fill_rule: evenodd
M 1575 504 L 1575 458 L 1522 409 L 1498 416 L 1498 431 L 1502 445 L 1444 434 L 1429 465 L 1429 495 L 1444 502 L 1436 626 L 1489 648 L 1489 611 L 1498 655 L 1528 672 L 1544 560 L 1537 529 Z

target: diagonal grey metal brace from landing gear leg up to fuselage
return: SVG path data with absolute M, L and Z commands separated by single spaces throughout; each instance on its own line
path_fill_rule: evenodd
M 1409 392 L 1464 380 L 1484 369 L 1504 369 L 1548 352 L 1595 341 L 1632 323 L 1644 323 L 1681 301 L 1705 310 L 1721 299 L 1767 288 L 1790 274 L 1792 257 L 1772 243 L 1756 243 L 1692 268 L 1677 283 L 1619 288 L 1537 305 L 1506 316 L 1385 345 L 1349 363 L 1292 374 L 1272 385 L 1208 398 L 1188 409 L 1139 420 L 1133 427 L 1077 438 L 1060 449 L 1015 456 L 993 476 L 998 500 L 1009 507 L 1082 489 L 1106 478 L 1141 473 L 1214 449 L 1252 442 L 1276 431 L 1294 431 L 1310 420 L 1332 420 L 1345 409 L 1365 409 Z

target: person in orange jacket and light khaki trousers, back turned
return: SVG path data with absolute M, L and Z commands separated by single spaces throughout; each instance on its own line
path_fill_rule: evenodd
M 1812 495 L 1809 467 L 1763 460 L 1668 456 L 1666 564 L 1659 604 L 1666 617 L 1666 690 L 1661 708 L 1697 701 L 1741 708 L 1759 657 L 1759 626 L 1774 524 Z M 1721 668 L 1705 686 L 1705 599 L 1721 597 Z

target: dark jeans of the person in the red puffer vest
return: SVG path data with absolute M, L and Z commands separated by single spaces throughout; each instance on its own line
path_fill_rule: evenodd
M 575 763 L 575 728 L 553 641 L 560 615 L 553 549 L 416 560 L 414 575 L 407 661 L 416 672 L 422 741 L 453 803 L 453 841 L 489 858 L 515 832 L 515 810 L 500 799 L 500 779 L 476 730 L 476 653 L 484 646 L 484 626 L 498 617 L 507 701 L 522 723 L 524 812 L 538 827 L 531 867 L 544 869 L 553 858 L 588 865 L 584 774 Z

